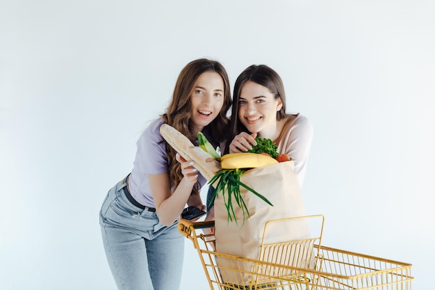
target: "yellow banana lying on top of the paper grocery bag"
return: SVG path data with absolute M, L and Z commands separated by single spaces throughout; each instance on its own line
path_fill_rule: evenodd
M 257 168 L 278 163 L 271 156 L 257 153 L 229 153 L 220 157 L 222 169 Z

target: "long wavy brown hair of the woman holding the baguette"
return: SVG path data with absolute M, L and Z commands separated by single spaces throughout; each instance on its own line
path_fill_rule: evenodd
M 212 61 L 207 58 L 199 58 L 195 61 L 188 63 L 183 70 L 181 70 L 177 83 L 175 83 L 174 93 L 172 100 L 167 106 L 166 112 L 161 115 L 164 122 L 174 127 L 181 132 L 184 136 L 188 137 L 190 141 L 195 144 L 197 136 L 192 130 L 192 121 L 190 117 L 191 102 L 190 96 L 192 95 L 195 82 L 198 77 L 204 72 L 217 72 L 222 76 L 224 81 L 224 104 L 215 118 L 208 124 L 203 131 L 207 132 L 209 140 L 215 147 L 219 145 L 220 141 L 224 140 L 227 136 L 229 120 L 227 118 L 227 111 L 231 107 L 231 91 L 229 87 L 229 79 L 227 71 L 223 65 L 217 61 Z M 181 165 L 175 159 L 174 149 L 170 145 L 166 145 L 166 155 L 169 161 L 169 175 L 172 185 L 177 187 L 183 179 L 181 173 Z M 199 183 L 195 184 L 192 193 L 199 193 Z

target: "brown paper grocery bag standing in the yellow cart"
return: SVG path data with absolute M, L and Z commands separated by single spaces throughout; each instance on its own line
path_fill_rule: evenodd
M 236 201 L 233 201 L 233 209 L 238 220 L 236 224 L 234 221 L 229 221 L 224 198 L 222 193 L 219 193 L 215 199 L 216 251 L 243 258 L 259 259 L 263 230 L 268 220 L 305 216 L 295 165 L 293 161 L 286 161 L 247 170 L 243 173 L 240 181 L 267 198 L 273 207 L 240 186 L 240 193 L 247 204 L 250 218 L 246 216 L 245 223 L 243 223 L 243 212 L 238 208 Z M 265 243 L 297 241 L 308 239 L 309 236 L 308 223 L 305 219 L 301 219 L 286 225 L 284 228 L 268 229 Z M 309 251 L 310 249 L 307 252 Z M 288 253 L 286 255 L 295 254 Z M 268 257 L 267 259 L 273 263 L 276 263 L 276 260 L 293 261 L 292 257 Z M 221 256 L 217 257 L 216 262 L 222 266 L 220 274 L 226 283 L 247 285 L 255 278 L 252 275 L 254 265 L 247 262 L 235 264 L 231 259 Z M 293 264 L 287 266 L 304 268 L 308 267 L 311 262 L 305 261 L 302 257 L 302 259 L 299 258 L 290 263 Z M 235 271 L 231 269 L 235 269 Z

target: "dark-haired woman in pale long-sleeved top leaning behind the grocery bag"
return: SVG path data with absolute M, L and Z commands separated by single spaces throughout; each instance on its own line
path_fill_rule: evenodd
M 313 126 L 301 113 L 287 113 L 281 76 L 268 65 L 249 65 L 236 79 L 233 90 L 229 143 L 224 153 L 247 152 L 257 145 L 255 138 L 268 138 L 295 162 L 302 187 L 313 140 Z M 214 219 L 213 191 L 207 194 L 206 220 Z

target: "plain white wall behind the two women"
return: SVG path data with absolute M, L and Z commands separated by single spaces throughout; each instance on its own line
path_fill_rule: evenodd
M 323 243 L 434 272 L 434 1 L 0 0 L 0 289 L 115 289 L 108 189 L 181 68 L 265 63 L 313 122 Z M 193 285 L 193 286 L 192 286 Z M 186 240 L 181 289 L 207 289 Z

